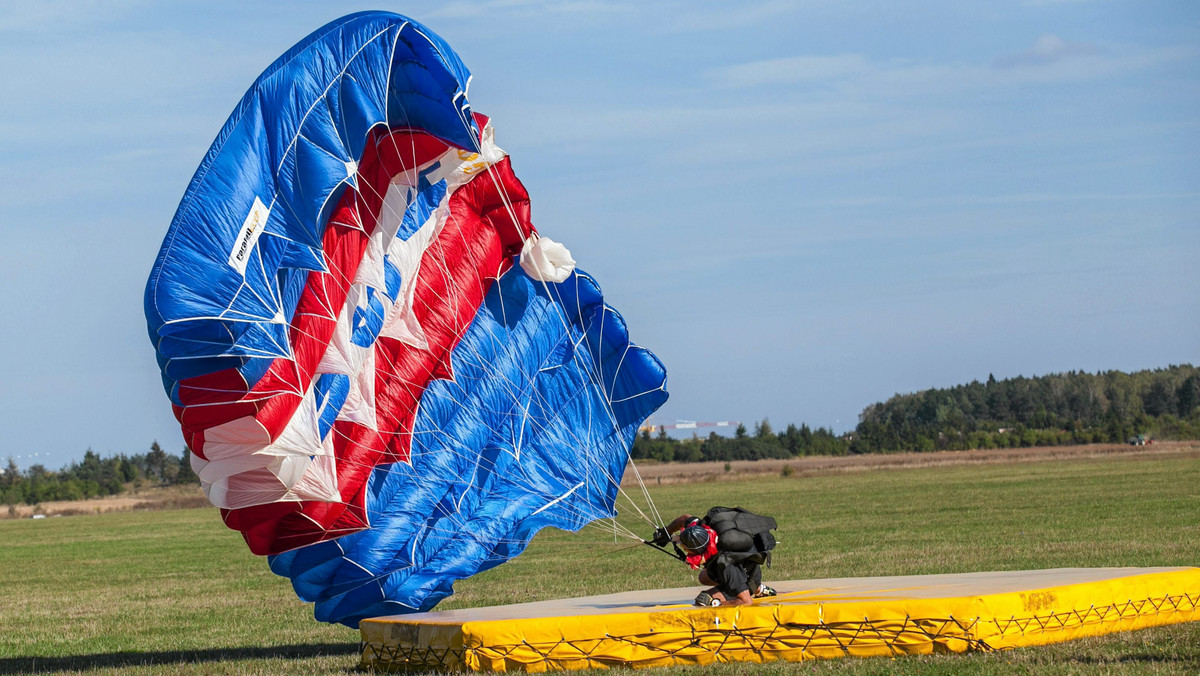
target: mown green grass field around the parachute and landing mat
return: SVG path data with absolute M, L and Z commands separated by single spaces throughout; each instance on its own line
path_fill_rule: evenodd
M 770 579 L 1200 564 L 1200 447 L 1067 461 L 662 485 L 667 519 L 775 515 Z M 647 527 L 630 521 L 638 531 Z M 0 521 L 0 674 L 346 674 L 358 632 L 312 620 L 216 509 Z M 463 608 L 692 584 L 599 530 L 544 532 L 457 585 Z M 992 654 L 842 659 L 756 674 L 1196 674 L 1200 622 Z M 740 674 L 745 665 L 667 669 Z

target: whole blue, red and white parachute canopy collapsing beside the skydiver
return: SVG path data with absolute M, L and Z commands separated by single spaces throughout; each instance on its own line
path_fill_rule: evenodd
M 313 32 L 234 109 L 146 286 L 204 490 L 319 620 L 428 610 L 614 515 L 667 396 L 468 80 L 397 14 Z

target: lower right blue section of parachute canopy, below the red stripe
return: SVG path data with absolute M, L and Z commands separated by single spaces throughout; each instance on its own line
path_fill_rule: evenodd
M 410 463 L 370 479 L 371 528 L 271 557 L 318 620 L 428 610 L 539 530 L 613 516 L 637 426 L 667 397 L 661 363 L 582 271 L 545 285 L 514 267 L 451 366 L 421 400 Z

